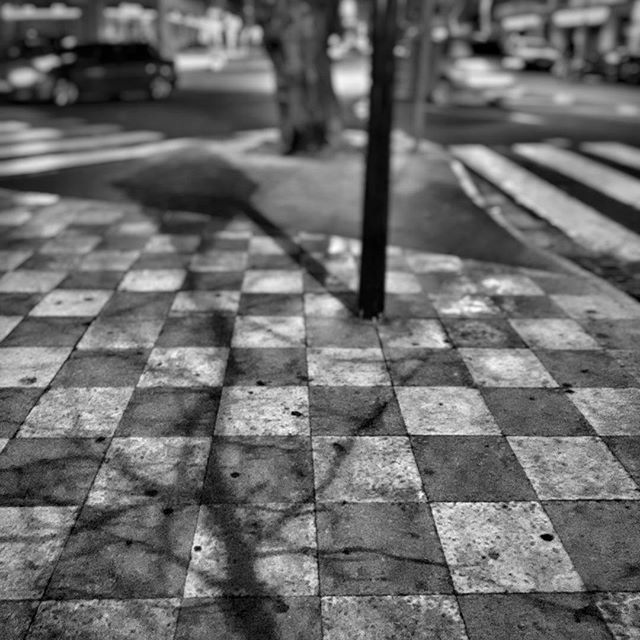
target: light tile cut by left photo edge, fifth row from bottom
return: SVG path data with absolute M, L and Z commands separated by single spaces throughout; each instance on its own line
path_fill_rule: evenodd
M 71 347 L 0 349 L 0 387 L 46 387 L 70 353 Z

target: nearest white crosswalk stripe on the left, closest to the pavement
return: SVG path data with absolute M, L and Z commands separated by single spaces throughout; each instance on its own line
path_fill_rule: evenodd
M 0 177 L 32 175 L 92 164 L 135 160 L 149 157 L 155 153 L 175 151 L 183 147 L 185 142 L 186 139 L 177 138 L 150 142 L 134 147 L 117 147 L 115 149 L 48 154 L 19 158 L 17 160 L 5 160 L 0 162 Z

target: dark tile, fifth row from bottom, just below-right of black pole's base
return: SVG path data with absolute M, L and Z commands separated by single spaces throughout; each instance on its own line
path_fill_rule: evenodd
M 453 349 L 386 349 L 391 381 L 396 386 L 470 387 L 471 374 Z

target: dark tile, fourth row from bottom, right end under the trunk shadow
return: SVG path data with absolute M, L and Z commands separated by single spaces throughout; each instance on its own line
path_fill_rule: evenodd
M 209 436 L 220 389 L 136 389 L 118 425 L 118 436 Z

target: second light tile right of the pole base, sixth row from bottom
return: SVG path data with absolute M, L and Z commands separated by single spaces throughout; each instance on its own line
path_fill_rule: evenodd
M 512 319 L 511 326 L 532 349 L 599 349 L 575 321 L 563 318 Z

